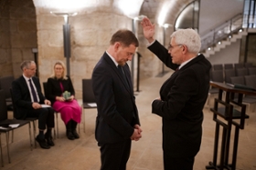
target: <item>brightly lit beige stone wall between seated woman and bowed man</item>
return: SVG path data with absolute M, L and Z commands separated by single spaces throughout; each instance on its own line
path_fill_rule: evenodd
M 60 60 L 66 63 L 63 52 L 62 16 L 50 14 L 49 9 L 37 8 L 37 44 L 40 81 L 47 81 L 53 65 Z M 91 78 L 92 70 L 110 45 L 113 33 L 120 28 L 132 30 L 127 16 L 108 11 L 81 13 L 69 17 L 71 57 L 70 77 L 76 96 L 81 98 L 81 79 Z

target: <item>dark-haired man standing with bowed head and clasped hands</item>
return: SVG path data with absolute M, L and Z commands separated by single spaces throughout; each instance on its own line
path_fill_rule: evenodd
M 112 35 L 110 46 L 92 73 L 92 88 L 98 115 L 95 137 L 101 147 L 101 170 L 125 170 L 131 140 L 139 140 L 141 127 L 128 60 L 139 42 L 123 29 Z

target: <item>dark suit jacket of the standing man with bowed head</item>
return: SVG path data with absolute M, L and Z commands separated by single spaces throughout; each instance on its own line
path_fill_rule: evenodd
M 95 137 L 99 144 L 111 144 L 129 139 L 133 125 L 140 125 L 129 66 L 123 66 L 129 85 L 125 85 L 109 55 L 104 53 L 93 69 L 92 88 L 98 115 Z

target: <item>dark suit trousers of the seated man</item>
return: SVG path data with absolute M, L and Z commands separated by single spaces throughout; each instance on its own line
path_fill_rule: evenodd
M 38 128 L 41 130 L 45 130 L 46 126 L 48 128 L 54 127 L 54 110 L 51 107 L 29 109 L 27 112 L 27 117 L 37 117 Z

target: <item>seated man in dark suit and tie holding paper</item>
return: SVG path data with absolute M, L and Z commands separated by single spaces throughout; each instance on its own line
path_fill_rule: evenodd
M 54 127 L 54 110 L 41 92 L 39 80 L 34 75 L 37 66 L 34 61 L 24 61 L 21 65 L 23 75 L 12 83 L 14 95 L 14 105 L 16 105 L 16 119 L 26 119 L 27 117 L 38 118 L 39 134 L 37 142 L 39 145 L 48 149 L 53 146 L 51 130 Z M 42 106 L 44 105 L 44 106 Z M 47 126 L 47 132 L 44 130 Z

